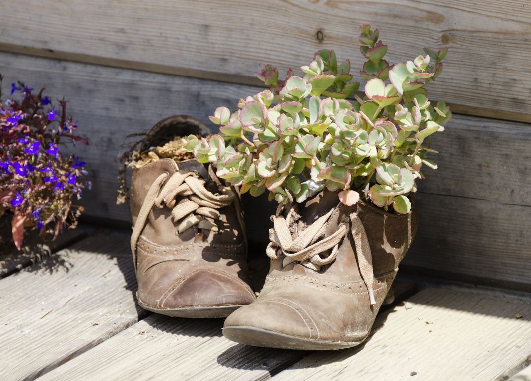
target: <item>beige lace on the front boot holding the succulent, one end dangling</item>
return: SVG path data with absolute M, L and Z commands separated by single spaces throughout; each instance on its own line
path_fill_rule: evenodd
M 282 208 L 277 210 L 273 216 L 273 228 L 269 230 L 271 242 L 267 248 L 267 255 L 272 259 L 282 259 L 282 266 L 287 266 L 292 262 L 299 262 L 301 265 L 319 271 L 321 266 L 332 263 L 337 256 L 339 244 L 345 237 L 348 230 L 348 221 L 339 224 L 338 230 L 326 237 L 326 226 L 329 217 L 335 209 L 331 209 L 327 214 L 319 217 L 302 232 L 297 233 L 297 220 L 299 216 L 295 209 L 290 209 L 286 217 L 281 215 Z M 357 213 L 350 213 L 350 233 L 356 245 L 356 256 L 358 259 L 359 271 L 363 281 L 369 291 L 371 304 L 376 304 L 373 292 L 374 274 L 372 268 L 371 248 L 363 223 Z M 292 226 L 294 232 L 290 232 Z M 295 236 L 295 239 L 293 239 Z M 330 250 L 326 258 L 321 255 Z

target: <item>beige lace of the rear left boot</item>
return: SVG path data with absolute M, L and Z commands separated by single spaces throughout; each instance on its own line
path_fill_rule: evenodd
M 167 205 L 172 209 L 173 221 L 182 219 L 177 226 L 177 234 L 181 234 L 186 229 L 197 225 L 201 229 L 210 230 L 217 233 L 219 227 L 210 219 L 221 219 L 219 208 L 229 206 L 233 203 L 236 194 L 229 187 L 220 187 L 221 194 L 213 194 L 205 189 L 205 181 L 198 178 L 194 172 L 176 172 L 169 178 L 164 187 L 162 183 L 168 178 L 164 173 L 157 177 L 151 184 L 145 196 L 140 213 L 136 218 L 131 235 L 131 251 L 133 256 L 136 252 L 136 244 L 144 230 L 145 223 L 153 208 L 162 208 Z M 186 197 L 184 202 L 176 204 L 176 197 Z M 210 219 L 209 219 L 210 218 Z M 133 258 L 134 259 L 134 258 Z M 136 265 L 136 260 L 134 259 Z

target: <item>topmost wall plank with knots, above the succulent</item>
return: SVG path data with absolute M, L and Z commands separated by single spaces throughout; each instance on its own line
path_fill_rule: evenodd
M 522 75 L 531 58 L 531 7 L 518 0 L 75 0 L 48 2 L 29 17 L 31 0 L 0 6 L 5 51 L 246 84 L 257 83 L 262 63 L 298 67 L 321 48 L 359 67 L 358 26 L 371 23 L 391 62 L 425 46 L 450 47 L 435 99 L 461 113 L 531 121 L 531 79 Z

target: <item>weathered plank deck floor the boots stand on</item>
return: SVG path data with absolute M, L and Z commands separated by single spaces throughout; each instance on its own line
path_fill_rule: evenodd
M 139 308 L 128 242 L 83 226 L 48 255 L 0 257 L 1 380 L 531 380 L 531 294 L 402 281 L 410 296 L 358 348 L 254 348 L 221 319 Z

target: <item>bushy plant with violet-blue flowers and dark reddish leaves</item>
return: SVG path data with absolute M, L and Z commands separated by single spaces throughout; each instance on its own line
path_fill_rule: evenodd
M 60 147 L 88 141 L 75 134 L 78 126 L 66 116 L 65 100 L 54 107 L 44 89 L 34 94 L 12 83 L 12 97 L 3 101 L 1 84 L 0 75 L 0 217 L 13 215 L 13 241 L 20 250 L 24 228 L 55 237 L 63 225 L 76 225 L 82 207 L 72 200 L 90 182 L 82 180 L 85 163 L 63 156 Z

